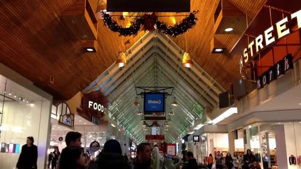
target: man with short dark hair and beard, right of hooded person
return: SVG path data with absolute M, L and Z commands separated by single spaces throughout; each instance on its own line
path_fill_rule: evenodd
M 134 162 L 134 169 L 151 168 L 151 145 L 141 143 L 137 146 L 137 157 Z

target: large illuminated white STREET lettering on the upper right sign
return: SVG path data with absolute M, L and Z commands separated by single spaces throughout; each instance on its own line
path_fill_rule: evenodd
M 301 10 L 291 14 L 291 20 L 297 19 L 298 29 L 301 28 Z M 244 67 L 244 62 L 248 63 L 250 58 L 252 58 L 260 49 L 272 44 L 276 41 L 276 36 L 278 39 L 281 39 L 290 34 L 290 29 L 287 28 L 286 24 L 289 22 L 288 17 L 285 17 L 281 21 L 277 22 L 275 26 L 271 26 L 267 30 L 264 31 L 264 36 L 259 35 L 255 40 L 251 41 L 247 48 L 244 49 L 244 53 L 240 58 L 240 71 L 242 73 L 242 69 Z M 274 30 L 276 28 L 276 30 Z M 263 43 L 264 42 L 264 43 Z M 256 52 L 253 51 L 253 47 L 255 46 Z M 248 50 L 249 49 L 249 50 Z M 250 55 L 249 55 L 250 52 Z

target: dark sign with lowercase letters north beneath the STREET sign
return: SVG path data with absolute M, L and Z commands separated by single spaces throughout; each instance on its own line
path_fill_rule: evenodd
M 270 84 L 272 81 L 280 78 L 291 69 L 293 69 L 293 56 L 292 54 L 288 54 L 268 71 L 262 73 L 261 76 L 257 78 L 257 89 L 263 88 L 266 84 Z

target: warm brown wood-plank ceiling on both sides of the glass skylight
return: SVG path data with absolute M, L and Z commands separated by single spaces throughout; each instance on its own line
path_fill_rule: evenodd
M 35 85 L 51 93 L 57 99 L 69 99 L 91 84 L 102 72 L 115 62 L 118 52 L 124 51 L 138 41 L 137 36 L 119 37 L 103 26 L 98 17 L 98 52 L 86 53 L 84 42 L 78 41 L 62 21 L 62 13 L 77 0 L 0 0 L 0 62 L 25 76 Z M 101 0 L 100 0 L 101 1 Z M 254 19 L 266 0 L 229 0 L 249 18 Z M 99 0 L 89 0 L 97 14 Z M 219 0 L 191 0 L 191 11 L 200 10 L 197 25 L 188 33 L 172 40 L 191 53 L 193 60 L 213 79 L 227 89 L 229 83 L 239 76 L 239 56 L 211 54 L 210 41 L 214 37 L 227 51 L 241 38 L 246 24 L 240 25 L 234 35 L 214 35 L 214 12 Z M 115 14 L 121 14 L 116 12 Z M 180 15 L 185 13 L 157 13 L 157 15 Z M 186 13 L 187 14 L 187 13 Z M 126 26 L 131 18 L 119 20 Z M 159 17 L 172 25 L 172 17 Z M 183 17 L 174 18 L 181 21 Z M 76 23 L 75 23 L 76 24 Z M 79 27 L 81 25 L 78 25 Z M 127 43 L 129 42 L 129 43 Z M 187 45 L 186 45 L 187 42 Z M 54 84 L 50 83 L 50 76 Z

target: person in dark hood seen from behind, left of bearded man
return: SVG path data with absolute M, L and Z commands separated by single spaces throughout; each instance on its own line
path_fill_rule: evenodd
M 111 139 L 104 143 L 103 152 L 89 169 L 132 169 L 132 166 L 122 155 L 120 143 Z

